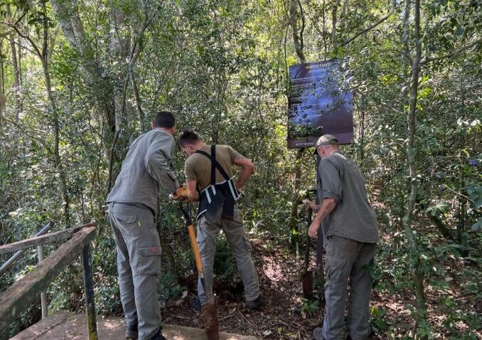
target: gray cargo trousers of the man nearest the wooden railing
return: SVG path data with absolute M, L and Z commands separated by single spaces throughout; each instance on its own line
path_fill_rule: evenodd
M 148 208 L 109 203 L 109 220 L 117 245 L 117 272 L 126 328 L 137 324 L 139 340 L 161 330 L 161 244 Z

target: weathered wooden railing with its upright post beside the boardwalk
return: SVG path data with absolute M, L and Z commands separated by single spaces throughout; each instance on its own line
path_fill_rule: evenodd
M 31 272 L 16 281 L 0 295 L 0 332 L 4 331 L 28 306 L 45 291 L 50 282 L 82 253 L 84 273 L 85 309 L 87 312 L 87 339 L 97 340 L 97 319 L 95 316 L 94 285 L 92 280 L 92 260 L 90 241 L 95 238 L 97 223 L 89 223 L 77 228 L 60 230 L 55 233 L 21 240 L 0 246 L 0 255 L 25 250 L 38 245 L 67 240 L 50 256 L 40 262 Z

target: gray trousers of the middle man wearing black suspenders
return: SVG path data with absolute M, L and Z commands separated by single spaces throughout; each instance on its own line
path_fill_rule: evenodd
M 232 221 L 222 217 L 222 207 L 218 209 L 215 218 L 209 219 L 201 216 L 198 221 L 198 245 L 203 261 L 205 289 L 198 281 L 198 295 L 201 304 L 208 303 L 208 297 L 213 294 L 213 264 L 216 253 L 216 237 L 223 230 L 237 263 L 242 283 L 245 285 L 246 301 L 254 301 L 259 296 L 259 278 L 252 262 L 252 246 L 242 225 L 240 210 L 235 206 Z M 207 293 L 207 294 L 206 294 Z

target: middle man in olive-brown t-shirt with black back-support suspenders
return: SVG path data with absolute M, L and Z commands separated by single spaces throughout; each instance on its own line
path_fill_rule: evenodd
M 203 260 L 205 289 L 198 282 L 198 294 L 201 305 L 207 304 L 213 294 L 213 263 L 216 253 L 216 237 L 223 230 L 227 241 L 230 243 L 232 253 L 237 262 L 237 270 L 245 285 L 245 308 L 258 309 L 264 304 L 264 299 L 259 294 L 259 278 L 252 261 L 252 246 L 247 237 L 245 227 L 242 225 L 240 210 L 235 201 L 239 191 L 247 179 L 254 172 L 255 164 L 250 159 L 237 153 L 227 145 L 205 145 L 192 131 L 181 132 L 178 139 L 183 152 L 188 154 L 186 159 L 186 186 L 193 193 L 193 201 L 200 201 L 200 206 L 211 205 L 211 212 L 200 208 L 198 215 L 198 235 L 201 259 Z M 215 178 L 211 178 L 213 166 L 212 150 L 215 150 Z M 232 179 L 232 165 L 240 166 L 241 171 L 237 180 Z M 215 183 L 213 183 L 213 181 Z M 208 195 L 206 195 L 208 191 Z M 231 197 L 228 197 L 232 193 Z M 223 195 L 221 200 L 217 198 Z M 207 196 L 210 201 L 207 200 Z M 230 213 L 225 214 L 226 206 L 231 202 Z M 216 205 L 216 206 L 215 206 Z

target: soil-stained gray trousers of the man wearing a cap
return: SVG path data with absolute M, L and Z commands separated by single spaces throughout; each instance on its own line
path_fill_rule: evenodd
M 343 339 L 348 279 L 347 328 L 351 339 L 362 340 L 370 334 L 368 324 L 372 278 L 366 266 L 373 261 L 376 243 L 362 243 L 349 238 L 331 236 L 326 248 L 325 319 L 323 338 Z

